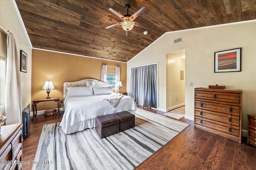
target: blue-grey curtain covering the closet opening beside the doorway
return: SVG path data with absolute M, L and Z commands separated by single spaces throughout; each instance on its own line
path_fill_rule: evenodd
M 157 65 L 131 68 L 130 96 L 143 107 L 157 107 Z

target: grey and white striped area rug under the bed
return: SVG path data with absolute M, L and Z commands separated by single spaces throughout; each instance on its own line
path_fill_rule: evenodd
M 32 169 L 131 170 L 188 127 L 142 109 L 134 114 L 134 128 L 104 139 L 95 128 L 66 135 L 60 123 L 44 125 Z

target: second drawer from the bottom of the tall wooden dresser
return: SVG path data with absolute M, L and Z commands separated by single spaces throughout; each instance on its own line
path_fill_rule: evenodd
M 204 109 L 195 109 L 195 115 L 222 123 L 239 126 L 239 116 L 236 115 L 228 115 L 226 113 L 219 113 L 216 111 L 209 111 Z

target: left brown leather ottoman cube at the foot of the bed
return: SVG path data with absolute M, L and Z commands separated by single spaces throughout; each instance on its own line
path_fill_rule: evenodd
M 113 114 L 102 115 L 95 118 L 95 130 L 101 139 L 120 132 L 119 129 L 119 119 Z

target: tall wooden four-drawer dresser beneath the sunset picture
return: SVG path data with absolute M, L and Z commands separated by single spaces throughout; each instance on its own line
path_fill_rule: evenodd
M 241 143 L 242 90 L 195 88 L 194 125 Z

